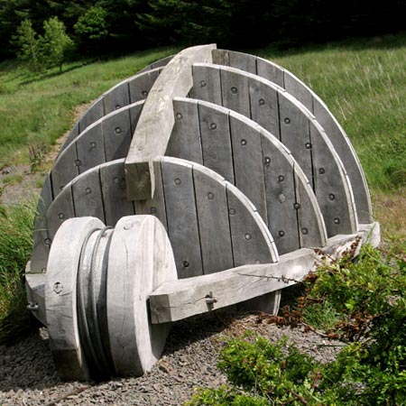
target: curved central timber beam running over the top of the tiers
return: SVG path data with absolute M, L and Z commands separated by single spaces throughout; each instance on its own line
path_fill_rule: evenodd
M 162 70 L 145 101 L 143 113 L 125 161 L 130 200 L 151 198 L 154 192 L 154 157 L 164 155 L 174 124 L 172 98 L 185 97 L 193 85 L 191 66 L 210 62 L 216 45 L 188 48 L 178 53 Z

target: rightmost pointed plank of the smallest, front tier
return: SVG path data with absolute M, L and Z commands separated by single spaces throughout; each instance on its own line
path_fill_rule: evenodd
M 272 235 L 253 204 L 230 183 L 226 190 L 235 266 L 277 262 Z

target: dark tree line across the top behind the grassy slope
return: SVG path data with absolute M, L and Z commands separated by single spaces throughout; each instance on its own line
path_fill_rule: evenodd
M 0 60 L 24 52 L 29 25 L 40 63 L 58 24 L 64 48 L 94 56 L 173 43 L 299 46 L 404 30 L 404 15 L 404 0 L 0 0 Z

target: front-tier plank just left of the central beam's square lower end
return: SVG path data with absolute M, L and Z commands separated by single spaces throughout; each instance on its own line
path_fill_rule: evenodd
M 126 198 L 124 160 L 101 165 L 100 182 L 107 226 L 115 226 L 121 217 L 135 214 L 133 202 Z

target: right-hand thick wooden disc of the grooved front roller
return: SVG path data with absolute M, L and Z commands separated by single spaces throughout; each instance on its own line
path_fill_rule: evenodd
M 171 243 L 152 216 L 123 217 L 108 256 L 107 323 L 115 372 L 141 375 L 158 360 L 169 326 L 151 326 L 147 300 L 176 279 Z

